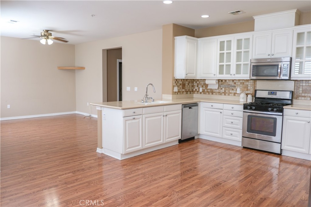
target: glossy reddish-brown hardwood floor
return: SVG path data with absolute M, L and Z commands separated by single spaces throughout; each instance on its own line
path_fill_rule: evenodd
M 203 139 L 126 160 L 96 147 L 96 118 L 1 121 L 1 206 L 308 205 L 308 160 Z

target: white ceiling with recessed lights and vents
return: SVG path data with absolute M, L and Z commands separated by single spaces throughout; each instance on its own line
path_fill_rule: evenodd
M 161 29 L 175 23 L 192 29 L 253 20 L 253 16 L 298 9 L 311 10 L 311 1 L 0 1 L 1 36 L 29 38 L 43 29 L 69 44 Z M 228 14 L 242 10 L 240 15 Z M 91 15 L 94 14 L 94 17 Z M 201 15 L 210 15 L 202 18 Z M 8 23 L 17 20 L 17 23 Z M 40 40 L 35 38 L 33 40 Z M 67 44 L 68 44 L 67 43 Z

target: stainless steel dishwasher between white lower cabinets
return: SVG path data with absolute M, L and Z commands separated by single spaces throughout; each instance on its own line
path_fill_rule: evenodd
M 198 112 L 197 103 L 182 105 L 181 140 L 197 136 Z

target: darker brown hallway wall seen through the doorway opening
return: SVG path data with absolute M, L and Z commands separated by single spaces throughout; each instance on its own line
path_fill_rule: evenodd
M 107 101 L 118 101 L 117 59 L 122 60 L 122 48 L 107 50 Z

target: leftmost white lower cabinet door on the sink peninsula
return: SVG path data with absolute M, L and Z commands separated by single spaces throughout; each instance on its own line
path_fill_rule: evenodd
M 123 118 L 124 153 L 143 148 L 142 115 Z

